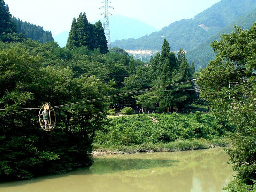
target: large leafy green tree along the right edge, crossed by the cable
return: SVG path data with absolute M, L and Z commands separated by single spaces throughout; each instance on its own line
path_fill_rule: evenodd
M 219 42 L 212 43 L 216 59 L 209 62 L 200 78 L 256 68 L 255 39 L 256 23 L 250 30 L 235 27 L 231 34 L 223 34 Z M 231 192 L 256 190 L 255 80 L 255 70 L 248 70 L 198 82 L 200 96 L 222 121 L 237 125 L 236 133 L 230 133 L 235 147 L 227 150 L 237 172 L 226 187 Z

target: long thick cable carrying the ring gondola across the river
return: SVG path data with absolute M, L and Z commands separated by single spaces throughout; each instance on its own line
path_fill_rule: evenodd
M 124 95 L 127 95 L 127 94 L 134 94 L 134 93 L 145 92 L 145 91 L 150 91 L 150 90 L 155 90 L 155 89 L 159 89 L 159 88 L 170 87 L 170 86 L 179 85 L 179 84 L 186 84 L 186 83 L 195 82 L 195 81 L 198 81 L 198 80 L 205 80 L 205 79 L 209 79 L 209 78 L 220 77 L 220 76 L 224 76 L 224 75 L 228 75 L 228 74 L 240 73 L 240 72 L 244 72 L 244 71 L 248 71 L 248 70 L 254 70 L 254 69 L 256 69 L 256 68 L 240 70 L 240 71 L 236 71 L 236 72 L 229 72 L 229 73 L 215 75 L 215 76 L 210 76 L 210 77 L 205 77 L 205 78 L 201 78 L 201 79 L 197 79 L 197 80 L 195 79 L 195 80 L 190 80 L 190 81 L 186 81 L 186 82 L 179 82 L 179 83 L 174 83 L 174 84 L 170 84 L 170 85 L 164 85 L 164 86 L 148 88 L 148 89 L 144 89 L 144 90 L 132 91 L 132 92 L 127 92 L 127 93 L 122 93 L 122 94 L 117 94 L 117 95 L 112 95 L 112 96 L 106 96 L 106 97 L 101 97 L 101 98 L 96 98 L 96 99 L 91 99 L 91 100 L 86 100 L 86 101 L 74 102 L 74 103 L 70 103 L 70 104 L 63 104 L 63 105 L 59 105 L 59 106 L 54 106 L 52 108 L 60 108 L 60 107 L 70 106 L 70 105 L 75 105 L 75 104 L 80 104 L 80 103 L 87 103 L 87 102 L 92 102 L 92 101 L 98 101 L 98 100 L 102 100 L 102 99 L 106 99 L 106 98 L 114 98 L 114 97 L 124 96 Z M 31 108 L 29 110 L 33 110 L 33 109 L 38 109 L 38 108 Z M 25 111 L 28 111 L 28 110 L 25 110 Z M 24 112 L 24 111 L 21 111 L 21 112 Z M 21 112 L 16 112 L 16 113 L 21 113 Z M 16 114 L 16 113 L 12 113 L 12 114 Z M 12 115 L 12 114 L 6 114 L 6 115 L 2 115 L 0 117 Z

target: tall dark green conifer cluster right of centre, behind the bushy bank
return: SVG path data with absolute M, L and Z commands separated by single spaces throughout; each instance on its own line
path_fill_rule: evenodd
M 166 39 L 162 46 L 161 54 L 158 52 L 151 59 L 150 80 L 152 87 L 166 86 L 179 82 L 191 80 L 192 74 L 185 52 L 181 48 L 176 57 L 174 52 L 170 52 L 170 46 Z M 144 95 L 135 96 L 137 104 L 149 108 L 153 104 L 159 103 L 166 113 L 182 111 L 186 104 L 191 104 L 194 100 L 194 85 L 192 83 L 163 87 Z M 146 109 L 145 109 L 146 110 Z

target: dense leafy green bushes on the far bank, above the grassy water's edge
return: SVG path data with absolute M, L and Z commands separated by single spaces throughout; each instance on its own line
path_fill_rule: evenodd
M 103 131 L 96 132 L 94 145 L 109 148 L 199 138 L 212 140 L 222 136 L 223 130 L 227 129 L 220 126 L 221 119 L 200 112 L 192 115 L 172 113 L 150 116 L 138 114 L 111 119 Z M 152 118 L 157 121 L 153 122 Z

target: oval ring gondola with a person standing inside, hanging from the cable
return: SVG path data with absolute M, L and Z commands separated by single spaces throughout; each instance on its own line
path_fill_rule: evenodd
M 44 110 L 43 110 L 44 109 Z M 51 117 L 51 112 L 54 114 L 54 121 Z M 40 116 L 43 116 L 44 123 L 42 123 Z M 39 123 L 43 130 L 52 131 L 55 128 L 56 124 L 56 115 L 54 109 L 51 110 L 51 106 L 49 103 L 44 104 L 38 114 Z

